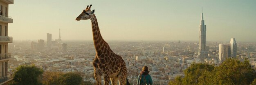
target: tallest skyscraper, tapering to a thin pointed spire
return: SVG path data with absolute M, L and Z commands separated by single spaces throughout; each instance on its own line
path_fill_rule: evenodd
M 206 48 L 206 25 L 204 24 L 203 13 L 201 15 L 201 24 L 199 28 L 199 49 L 198 57 L 201 60 L 204 60 L 208 57 L 207 48 Z

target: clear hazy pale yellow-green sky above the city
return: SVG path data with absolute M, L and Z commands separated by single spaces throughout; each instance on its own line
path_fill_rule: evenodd
M 105 40 L 199 40 L 203 7 L 207 41 L 256 41 L 256 0 L 14 0 L 9 36 L 92 40 L 90 20 L 75 18 L 92 4 Z

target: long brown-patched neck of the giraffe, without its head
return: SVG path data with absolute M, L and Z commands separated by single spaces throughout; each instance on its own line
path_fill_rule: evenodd
M 96 50 L 96 54 L 100 56 L 101 54 L 103 54 L 103 52 L 104 53 L 109 52 L 109 50 L 111 49 L 108 46 L 108 43 L 106 43 L 106 41 L 104 41 L 104 39 L 101 36 L 101 32 L 99 31 L 99 26 L 98 26 L 96 16 L 93 15 L 90 20 L 92 22 L 92 35 L 93 35 L 94 47 Z

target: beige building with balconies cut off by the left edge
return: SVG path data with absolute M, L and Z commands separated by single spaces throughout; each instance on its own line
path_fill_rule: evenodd
M 13 79 L 8 74 L 8 61 L 11 58 L 8 43 L 12 43 L 12 37 L 8 36 L 8 24 L 13 23 L 8 14 L 9 4 L 13 4 L 13 0 L 0 0 L 0 85 L 6 85 Z

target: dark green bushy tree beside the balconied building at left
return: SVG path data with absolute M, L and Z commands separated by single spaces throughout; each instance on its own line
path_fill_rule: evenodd
M 19 65 L 16 70 L 9 85 L 40 85 L 38 76 L 43 74 L 42 69 L 35 65 Z

